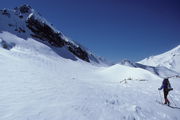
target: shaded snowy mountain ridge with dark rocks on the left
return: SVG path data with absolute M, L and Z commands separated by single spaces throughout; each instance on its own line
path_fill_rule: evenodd
M 13 10 L 0 10 L 0 32 L 9 32 L 24 40 L 32 38 L 49 46 L 64 58 L 81 59 L 94 63 L 104 62 L 103 59 L 94 56 L 80 45 L 68 40 L 29 5 L 16 7 Z M 6 48 L 6 39 L 2 37 L 0 39 L 2 46 Z M 16 43 L 12 41 L 7 49 L 11 49 L 14 46 L 16 46 Z

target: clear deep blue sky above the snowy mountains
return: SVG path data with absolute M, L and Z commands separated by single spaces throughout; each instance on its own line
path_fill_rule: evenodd
M 1 0 L 0 9 L 21 4 L 110 61 L 139 61 L 180 44 L 180 0 Z

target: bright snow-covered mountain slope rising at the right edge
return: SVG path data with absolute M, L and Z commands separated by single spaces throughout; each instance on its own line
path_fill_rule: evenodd
M 150 66 L 163 66 L 180 73 L 180 45 L 160 55 L 151 56 L 138 63 Z

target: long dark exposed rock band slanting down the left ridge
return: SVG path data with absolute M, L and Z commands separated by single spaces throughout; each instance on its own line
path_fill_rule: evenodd
M 70 52 L 80 59 L 90 62 L 88 53 L 81 47 L 74 45 L 71 42 L 64 40 L 60 32 L 54 31 L 48 24 L 42 23 L 35 16 L 31 15 L 27 21 L 27 27 L 33 32 L 32 37 L 39 38 L 40 40 L 47 41 L 54 47 L 66 46 Z

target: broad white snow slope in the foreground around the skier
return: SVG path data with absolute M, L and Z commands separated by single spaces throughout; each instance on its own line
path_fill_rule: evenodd
M 8 32 L 0 38 L 16 44 L 0 47 L 0 120 L 180 119 L 179 109 L 156 102 L 162 79 L 149 71 L 65 59 L 43 43 Z M 180 82 L 170 80 L 180 107 Z

